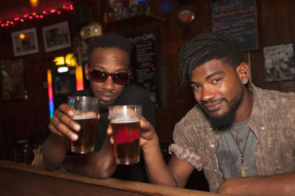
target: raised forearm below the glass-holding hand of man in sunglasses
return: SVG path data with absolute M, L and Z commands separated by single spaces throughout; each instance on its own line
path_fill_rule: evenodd
M 47 169 L 55 170 L 65 160 L 71 140 L 51 133 L 42 145 L 43 162 Z

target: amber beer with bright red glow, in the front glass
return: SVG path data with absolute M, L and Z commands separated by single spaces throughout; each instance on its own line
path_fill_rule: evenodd
M 130 165 L 139 162 L 139 121 L 139 119 L 111 121 L 117 164 Z

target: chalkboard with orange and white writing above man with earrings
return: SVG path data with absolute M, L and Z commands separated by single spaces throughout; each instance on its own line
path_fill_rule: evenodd
M 237 38 L 242 51 L 258 49 L 255 0 L 212 0 L 211 24 L 213 31 Z

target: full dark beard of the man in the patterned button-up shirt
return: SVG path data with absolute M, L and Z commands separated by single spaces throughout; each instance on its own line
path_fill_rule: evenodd
M 238 92 L 237 95 L 230 101 L 228 101 L 226 98 L 209 101 L 210 103 L 213 103 L 213 102 L 224 100 L 227 103 L 227 106 L 229 108 L 226 113 L 221 114 L 221 115 L 217 115 L 217 116 L 213 116 L 205 108 L 203 108 L 203 112 L 208 117 L 209 122 L 213 126 L 225 127 L 228 124 L 232 123 L 232 121 L 235 117 L 236 111 L 237 111 L 238 107 L 241 105 L 243 99 L 244 99 L 244 91 L 241 88 L 240 92 Z M 202 102 L 201 104 L 203 105 L 206 103 L 208 103 L 208 102 Z

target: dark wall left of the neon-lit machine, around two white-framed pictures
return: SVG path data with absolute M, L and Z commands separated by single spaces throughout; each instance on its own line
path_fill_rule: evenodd
M 19 23 L 14 27 L 1 28 L 4 42 L 0 45 L 0 60 L 14 59 L 11 32 L 21 29 L 36 27 L 40 50 L 37 54 L 18 57 L 24 60 L 25 86 L 28 99 L 3 102 L 2 92 L 0 92 L 0 118 L 13 118 L 12 121 L 1 124 L 6 160 L 13 160 L 16 139 L 29 138 L 35 129 L 49 124 L 48 92 L 47 89 L 43 88 L 43 82 L 47 81 L 47 69 L 53 67 L 54 57 L 74 52 L 74 48 L 71 47 L 45 53 L 42 27 L 67 20 L 69 21 L 71 37 L 74 38 L 78 36 L 74 19 L 75 15 L 72 11 Z M 0 86 L 2 87 L 2 84 Z

